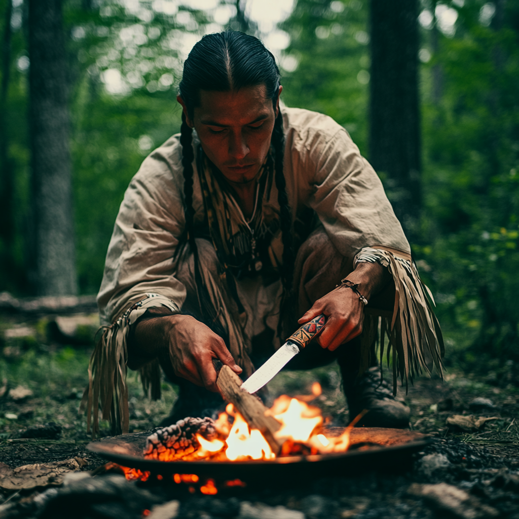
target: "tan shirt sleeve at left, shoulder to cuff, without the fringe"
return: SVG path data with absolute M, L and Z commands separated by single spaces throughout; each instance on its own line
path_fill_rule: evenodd
M 146 294 L 166 297 L 177 311 L 184 302 L 186 291 L 174 276 L 173 258 L 185 219 L 174 174 L 176 140 L 170 141 L 144 160 L 119 208 L 97 298 L 104 325 Z

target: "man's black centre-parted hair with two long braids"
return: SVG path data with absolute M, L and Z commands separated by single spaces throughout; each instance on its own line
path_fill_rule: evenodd
M 184 73 L 179 86 L 180 97 L 184 101 L 190 118 L 199 104 L 200 90 L 227 92 L 243 87 L 265 85 L 266 94 L 277 108 L 280 73 L 276 60 L 263 43 L 248 34 L 225 31 L 204 36 L 189 52 L 184 63 Z M 194 237 L 193 209 L 193 130 L 187 125 L 182 114 L 180 143 L 182 145 L 182 166 L 184 169 L 184 201 L 186 233 L 190 247 L 198 251 Z M 272 131 L 271 147 L 274 148 L 275 182 L 278 189 L 280 222 L 283 242 L 283 266 L 281 279 L 286 292 L 291 291 L 294 253 L 292 243 L 292 213 L 286 195 L 283 175 L 284 153 L 283 118 L 278 112 Z M 195 268 L 197 270 L 197 268 Z

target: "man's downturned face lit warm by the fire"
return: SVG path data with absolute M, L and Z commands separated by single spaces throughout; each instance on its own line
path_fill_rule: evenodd
M 231 92 L 201 90 L 193 119 L 182 98 L 177 98 L 187 124 L 198 133 L 204 153 L 231 183 L 253 181 L 268 154 L 279 108 L 274 111 L 265 93 L 264 85 Z

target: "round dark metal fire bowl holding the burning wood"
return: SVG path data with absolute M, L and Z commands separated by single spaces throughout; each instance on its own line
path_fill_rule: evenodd
M 342 427 L 326 429 L 338 435 Z M 166 478 L 175 473 L 197 474 L 224 481 L 239 478 L 251 481 L 270 479 L 307 479 L 313 476 L 345 476 L 362 469 L 402 470 L 411 454 L 418 452 L 432 439 L 416 431 L 383 428 L 354 428 L 346 453 L 280 457 L 269 461 L 158 461 L 144 459 L 142 454 L 149 432 L 112 436 L 91 442 L 87 448 L 107 460 L 124 467 L 150 471 L 152 477 Z M 160 478 L 160 479 L 162 479 Z M 285 480 L 286 481 L 286 480 Z

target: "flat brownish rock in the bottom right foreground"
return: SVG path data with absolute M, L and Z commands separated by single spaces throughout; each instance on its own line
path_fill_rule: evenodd
M 412 496 L 421 497 L 434 507 L 460 519 L 483 519 L 499 515 L 495 508 L 483 504 L 476 497 L 467 494 L 465 490 L 447 483 L 437 485 L 413 483 L 407 491 Z

